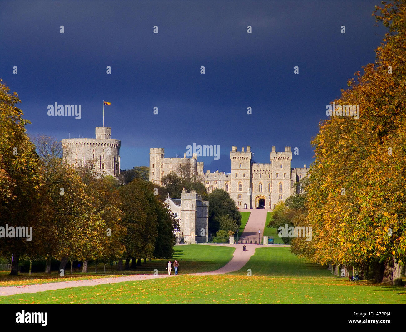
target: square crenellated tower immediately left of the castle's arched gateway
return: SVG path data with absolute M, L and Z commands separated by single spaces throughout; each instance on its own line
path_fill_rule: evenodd
M 251 181 L 251 147 L 247 151 L 237 151 L 232 147 L 231 159 L 231 188 L 230 196 L 237 203 L 239 209 L 252 209 L 252 181 Z

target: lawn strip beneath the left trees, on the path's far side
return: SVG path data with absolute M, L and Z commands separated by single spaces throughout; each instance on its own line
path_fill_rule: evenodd
M 202 244 L 184 244 L 174 247 L 173 259 L 179 261 L 179 274 L 214 271 L 226 265 L 233 258 L 234 248 L 225 246 L 206 246 Z M 173 261 L 171 259 L 171 261 Z M 168 273 L 166 266 L 168 259 L 153 259 L 151 262 L 143 263 L 132 270 L 117 271 L 117 265 L 106 265 L 106 272 L 103 272 L 103 264 L 95 265 L 90 263 L 89 273 L 82 274 L 79 271 L 70 274 L 70 270 L 65 271 L 65 277 L 59 276 L 59 272 L 53 271 L 51 274 L 45 273 L 20 273 L 18 276 L 10 276 L 9 271 L 0 271 L 0 287 L 43 284 L 47 282 L 60 282 L 93 278 L 105 278 L 113 276 L 128 276 L 131 274 L 152 274 L 154 269 L 158 273 Z M 124 266 L 124 262 L 123 262 Z M 110 271 L 110 268 L 112 271 Z

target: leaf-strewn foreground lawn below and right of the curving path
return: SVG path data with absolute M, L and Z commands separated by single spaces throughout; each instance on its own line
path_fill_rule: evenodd
M 252 276 L 247 276 L 248 268 L 252 269 Z M 406 304 L 406 289 L 366 281 L 349 282 L 331 275 L 325 268 L 298 259 L 288 248 L 268 247 L 257 248 L 246 266 L 232 274 L 180 275 L 16 294 L 0 297 L 0 303 Z

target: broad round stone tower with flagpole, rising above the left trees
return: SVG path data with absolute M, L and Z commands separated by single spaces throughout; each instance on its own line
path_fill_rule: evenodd
M 120 174 L 120 140 L 111 139 L 110 127 L 96 127 L 96 138 L 62 140 L 63 155 L 68 164 L 84 166 L 94 163 L 99 175 Z

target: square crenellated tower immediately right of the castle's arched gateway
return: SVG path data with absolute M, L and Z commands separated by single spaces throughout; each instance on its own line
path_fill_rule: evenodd
M 270 160 L 272 164 L 271 208 L 273 209 L 278 202 L 285 201 L 292 194 L 291 147 L 285 147 L 285 152 L 276 152 L 275 147 L 272 147 Z

